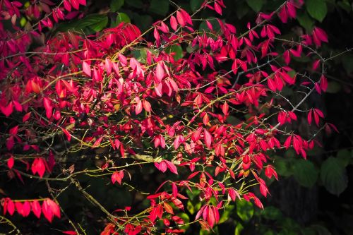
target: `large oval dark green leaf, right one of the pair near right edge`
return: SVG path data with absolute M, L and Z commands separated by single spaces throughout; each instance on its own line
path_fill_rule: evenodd
M 347 188 L 346 169 L 335 157 L 329 157 L 323 162 L 320 178 L 327 191 L 335 195 L 340 195 Z

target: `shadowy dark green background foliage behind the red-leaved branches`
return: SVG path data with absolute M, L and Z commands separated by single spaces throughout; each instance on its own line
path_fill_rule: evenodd
M 202 0 L 177 1 L 176 3 L 185 8 L 186 11 L 195 12 L 202 4 Z M 311 32 L 314 23 L 328 32 L 329 43 L 323 47 L 323 55 L 330 57 L 335 54 L 345 52 L 352 47 L 353 38 L 353 2 L 349 0 L 307 0 L 305 7 L 298 12 L 297 20 L 292 20 L 288 28 L 282 28 L 283 38 L 298 37 L 304 32 Z M 259 11 L 274 11 L 282 1 L 278 0 L 227 0 L 224 10 L 220 18 L 227 20 L 237 26 L 237 32 L 244 32 L 246 23 L 256 18 Z M 76 30 L 85 34 L 99 32 L 107 27 L 115 27 L 121 22 L 131 22 L 138 25 L 143 32 L 148 30 L 152 22 L 166 17 L 170 11 L 174 11 L 175 6 L 168 0 L 112 0 L 112 1 L 88 1 L 87 15 L 80 20 L 73 20 L 70 23 L 61 23 L 54 32 Z M 197 18 L 210 19 L 210 23 L 215 13 L 206 9 L 197 15 Z M 196 27 L 208 30 L 204 22 L 200 21 Z M 214 24 L 214 29 L 217 30 Z M 152 37 L 152 35 L 146 35 Z M 190 49 L 190 48 L 188 48 Z M 166 50 L 174 53 L 174 59 L 182 58 L 183 48 L 180 46 L 172 46 Z M 134 52 L 134 56 L 138 60 L 145 59 L 145 48 Z M 305 58 L 297 59 L 298 71 L 303 66 L 311 66 Z M 313 72 L 314 73 L 314 72 Z M 311 100 L 323 107 L 327 114 L 328 121 L 335 123 L 340 130 L 340 135 L 332 134 L 328 137 L 322 136 L 321 142 L 323 148 L 313 151 L 307 160 L 298 159 L 292 150 L 284 150 L 283 152 L 274 152 L 275 158 L 273 164 L 280 176 L 280 179 L 288 179 L 296 183 L 294 191 L 309 191 L 315 188 L 318 191 L 316 199 L 313 203 L 317 203 L 318 207 L 312 216 L 306 221 L 298 221 L 296 215 L 292 215 L 288 211 L 283 211 L 282 205 L 275 199 L 265 201 L 265 210 L 258 210 L 251 203 L 245 200 L 237 200 L 236 206 L 229 205 L 225 211 L 222 211 L 220 224 L 215 227 L 215 234 L 349 234 L 353 231 L 352 225 L 346 221 L 353 218 L 353 125 L 352 125 L 352 78 L 353 78 L 353 53 L 347 52 L 342 56 L 337 56 L 328 62 L 328 92 L 322 100 Z M 286 91 L 284 91 L 286 92 Z M 289 94 L 291 94 L 290 90 Z M 292 94 L 294 96 L 294 94 Z M 317 98 L 321 99 L 321 98 Z M 236 117 L 234 117 L 235 119 Z M 304 123 L 306 120 L 303 120 Z M 304 135 L 307 130 L 303 126 L 297 126 Z M 85 162 L 85 167 L 94 168 L 95 162 Z M 135 169 L 139 171 L 139 169 Z M 152 181 L 161 183 L 163 181 L 162 174 L 156 169 L 150 169 L 149 172 L 143 172 L 143 179 L 133 178 L 131 181 L 140 184 L 141 188 L 153 188 L 155 185 Z M 135 175 L 135 174 L 132 174 Z M 155 180 L 157 179 L 157 180 Z M 104 202 L 106 207 L 124 207 L 126 205 L 134 205 L 134 207 L 143 207 L 144 200 L 139 200 L 138 193 L 135 195 L 128 191 L 121 191 L 120 186 L 114 186 L 109 191 L 100 190 L 100 186 L 109 184 L 109 178 L 87 178 L 80 179 L 85 182 L 88 192 L 95 198 Z M 0 188 L 4 186 L 6 179 L 1 179 Z M 277 182 L 272 182 L 279 191 L 282 188 Z M 277 186 L 276 186 L 277 185 Z M 270 187 L 270 192 L 271 191 Z M 304 188 L 304 189 L 303 189 Z M 118 190 L 119 189 L 119 190 Z M 192 221 L 197 210 L 201 207 L 198 198 L 194 198 L 193 193 L 189 193 L 189 197 L 193 199 L 193 203 L 188 203 L 184 213 L 179 216 L 185 218 L 186 221 Z M 271 196 L 270 196 L 271 197 Z M 82 203 L 78 200 L 78 195 L 68 188 L 65 193 L 60 195 L 59 203 L 64 210 L 74 212 L 75 207 L 71 203 L 73 200 L 78 204 Z M 265 200 L 265 198 L 261 198 Z M 197 203 L 198 202 L 198 203 Z M 295 201 L 288 201 L 293 203 Z M 88 227 L 88 234 L 96 234 L 97 222 L 94 221 L 93 213 L 97 212 L 90 205 L 82 205 L 86 207 L 87 212 L 76 213 L 77 220 L 81 220 L 85 227 Z M 99 213 L 99 212 L 97 212 Z M 74 214 L 74 213 L 73 213 Z M 16 217 L 20 220 L 20 217 Z M 352 221 L 352 220 L 351 220 Z M 33 222 L 32 226 L 35 226 Z M 185 227 L 187 234 L 196 234 L 198 227 L 195 224 Z M 38 233 L 45 229 L 37 228 Z M 25 231 L 25 230 L 24 230 Z M 212 234 L 202 231 L 200 234 Z

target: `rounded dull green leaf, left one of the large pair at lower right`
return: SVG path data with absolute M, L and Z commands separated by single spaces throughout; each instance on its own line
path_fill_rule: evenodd
M 311 188 L 318 179 L 318 170 L 313 162 L 305 159 L 298 159 L 293 166 L 294 179 L 306 188 Z

